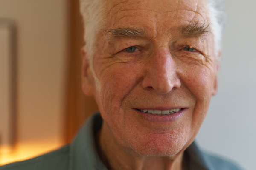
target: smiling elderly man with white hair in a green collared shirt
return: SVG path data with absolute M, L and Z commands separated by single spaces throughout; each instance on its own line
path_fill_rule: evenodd
M 194 139 L 216 94 L 216 0 L 81 0 L 82 89 L 94 114 L 74 142 L 1 170 L 238 170 Z

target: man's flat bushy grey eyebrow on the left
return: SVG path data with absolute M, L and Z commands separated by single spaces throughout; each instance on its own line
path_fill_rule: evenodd
M 108 40 L 113 40 L 120 37 L 143 37 L 144 31 L 139 28 L 115 28 L 103 30 Z

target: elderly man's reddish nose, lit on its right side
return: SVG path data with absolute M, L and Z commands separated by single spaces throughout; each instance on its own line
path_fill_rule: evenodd
M 153 90 L 157 94 L 166 94 L 172 89 L 180 88 L 180 78 L 169 50 L 158 49 L 148 57 L 147 63 L 142 81 L 144 89 Z

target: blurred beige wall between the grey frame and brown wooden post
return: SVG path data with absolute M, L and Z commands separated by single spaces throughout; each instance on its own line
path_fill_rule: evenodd
M 17 23 L 17 152 L 32 142 L 41 147 L 38 152 L 58 147 L 63 143 L 67 0 L 0 0 L 0 17 Z

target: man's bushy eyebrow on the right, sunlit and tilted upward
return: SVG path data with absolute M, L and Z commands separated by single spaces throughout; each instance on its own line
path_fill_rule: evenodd
M 210 32 L 210 24 L 190 22 L 187 26 L 180 27 L 180 32 L 183 37 L 199 37 Z

